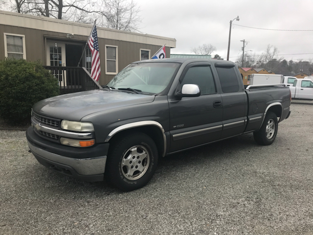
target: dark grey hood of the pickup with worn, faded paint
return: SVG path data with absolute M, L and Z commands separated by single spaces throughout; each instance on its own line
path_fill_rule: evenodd
M 100 111 L 153 102 L 154 95 L 133 94 L 121 91 L 92 90 L 63 94 L 37 102 L 33 111 L 37 114 L 79 121 Z

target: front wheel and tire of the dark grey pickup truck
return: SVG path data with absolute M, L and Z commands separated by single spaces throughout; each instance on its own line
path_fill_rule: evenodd
M 144 133 L 129 134 L 110 146 L 105 177 L 113 187 L 132 191 L 151 180 L 157 162 L 155 142 Z

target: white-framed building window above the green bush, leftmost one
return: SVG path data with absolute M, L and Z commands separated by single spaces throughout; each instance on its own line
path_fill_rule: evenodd
M 4 33 L 5 57 L 26 59 L 25 35 Z

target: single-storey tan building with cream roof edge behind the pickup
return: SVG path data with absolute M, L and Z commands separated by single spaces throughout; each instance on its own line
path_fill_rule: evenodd
M 0 60 L 5 57 L 41 60 L 44 66 L 60 80 L 60 86 L 80 86 L 77 69 L 89 38 L 91 24 L 81 24 L 47 17 L 36 17 L 0 11 Z M 97 26 L 101 77 L 100 85 L 128 64 L 150 59 L 160 47 L 166 45 L 166 57 L 176 47 L 176 39 L 126 32 Z M 91 70 L 91 53 L 87 47 L 79 67 Z M 62 69 L 61 69 L 62 68 Z M 69 71 L 71 68 L 71 71 Z M 74 74 L 74 73 L 73 73 Z M 74 79 L 74 80 L 69 80 Z

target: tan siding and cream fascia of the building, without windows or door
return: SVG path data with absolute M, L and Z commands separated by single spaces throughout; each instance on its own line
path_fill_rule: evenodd
M 5 58 L 4 33 L 25 36 L 26 60 L 40 60 L 47 65 L 46 41 L 76 44 L 82 48 L 86 45 L 92 25 L 55 20 L 46 17 L 34 17 L 18 13 L 0 11 L 0 60 Z M 71 34 L 71 38 L 67 38 Z M 100 85 L 106 85 L 114 75 L 105 73 L 105 46 L 117 46 L 118 71 L 130 63 L 140 60 L 140 49 L 150 50 L 151 56 L 166 44 L 166 57 L 170 49 L 176 46 L 176 40 L 147 34 L 138 34 L 114 29 L 97 27 L 100 52 Z M 81 63 L 82 65 L 82 63 Z

